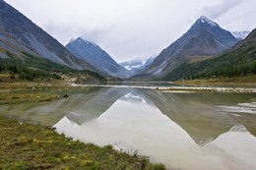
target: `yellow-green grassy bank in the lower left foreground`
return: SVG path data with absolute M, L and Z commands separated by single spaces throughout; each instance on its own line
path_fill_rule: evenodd
M 129 155 L 67 139 L 55 131 L 0 116 L 0 169 L 165 169 Z

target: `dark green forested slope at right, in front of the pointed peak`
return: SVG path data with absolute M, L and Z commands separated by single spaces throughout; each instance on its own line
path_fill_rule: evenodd
M 256 75 L 255 54 L 256 28 L 245 39 L 221 55 L 201 62 L 183 63 L 162 80 L 215 79 Z M 253 82 L 253 80 L 250 81 Z

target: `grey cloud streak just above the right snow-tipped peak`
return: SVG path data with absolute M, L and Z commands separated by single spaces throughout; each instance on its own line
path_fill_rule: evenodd
M 241 4 L 243 0 L 223 0 L 221 3 L 203 8 L 202 13 L 212 20 L 219 19 L 228 11 Z

